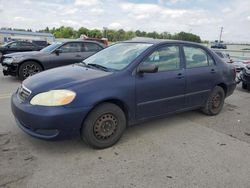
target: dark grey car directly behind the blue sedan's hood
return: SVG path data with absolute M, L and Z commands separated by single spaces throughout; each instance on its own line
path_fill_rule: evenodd
M 36 52 L 4 55 L 3 74 L 24 80 L 43 70 L 80 62 L 103 48 L 94 41 L 67 41 L 56 42 Z

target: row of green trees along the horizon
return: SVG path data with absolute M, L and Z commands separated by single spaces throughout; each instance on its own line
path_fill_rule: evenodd
M 25 31 L 24 29 L 11 29 L 11 30 Z M 26 31 L 31 31 L 31 29 L 28 29 Z M 185 40 L 185 41 L 192 41 L 199 43 L 201 42 L 200 36 L 187 32 L 179 32 L 171 34 L 169 32 L 158 33 L 156 31 L 146 32 L 140 30 L 125 31 L 124 29 L 100 30 L 100 29 L 88 29 L 85 27 L 81 27 L 76 30 L 72 27 L 65 27 L 65 26 L 61 26 L 59 28 L 53 27 L 51 29 L 49 27 L 46 27 L 45 29 L 39 30 L 38 32 L 52 33 L 56 38 L 72 38 L 72 39 L 79 38 L 82 34 L 84 34 L 87 35 L 88 37 L 93 37 L 93 38 L 102 38 L 102 37 L 108 38 L 108 40 L 111 42 L 129 40 L 134 37 L 150 37 L 154 39 L 173 39 L 173 40 Z

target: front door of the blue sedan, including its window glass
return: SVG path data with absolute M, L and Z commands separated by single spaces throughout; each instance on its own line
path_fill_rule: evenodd
M 154 51 L 139 66 L 155 64 L 158 72 L 136 76 L 136 116 L 144 119 L 183 108 L 185 71 L 181 67 L 178 46 Z

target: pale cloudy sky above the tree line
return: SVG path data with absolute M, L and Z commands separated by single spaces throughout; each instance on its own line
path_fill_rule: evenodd
M 0 0 L 0 27 L 185 31 L 250 42 L 250 0 Z

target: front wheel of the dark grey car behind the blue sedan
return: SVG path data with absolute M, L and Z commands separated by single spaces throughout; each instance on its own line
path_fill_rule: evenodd
M 37 62 L 34 61 L 24 62 L 18 69 L 18 78 L 20 80 L 24 80 L 29 76 L 41 72 L 42 70 L 43 68 Z

